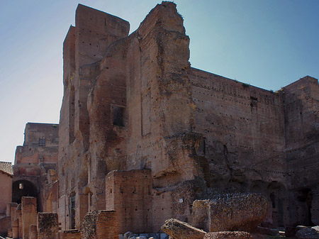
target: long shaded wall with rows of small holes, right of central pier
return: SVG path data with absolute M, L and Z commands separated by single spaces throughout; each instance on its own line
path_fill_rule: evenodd
M 189 74 L 208 185 L 240 191 L 253 180 L 285 184 L 281 96 L 194 68 Z

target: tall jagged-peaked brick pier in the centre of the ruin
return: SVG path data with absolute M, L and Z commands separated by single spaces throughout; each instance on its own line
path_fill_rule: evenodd
M 175 4 L 163 2 L 129 40 L 127 169 L 151 169 L 152 228 L 157 232 L 167 218 L 190 219 L 175 213 L 179 203 L 169 191 L 202 177 L 192 157 L 198 135 L 191 133 L 189 38 Z

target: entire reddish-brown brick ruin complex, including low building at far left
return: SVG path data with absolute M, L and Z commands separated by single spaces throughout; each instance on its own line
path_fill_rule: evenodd
M 318 79 L 272 92 L 191 67 L 172 2 L 129 28 L 77 7 L 63 44 L 60 124 L 28 123 L 16 150 L 9 234 L 33 238 L 28 226 L 38 225 L 38 238 L 151 235 L 176 218 L 218 231 L 205 238 L 250 238 L 219 232 L 252 228 L 220 228 L 214 213 L 256 216 L 247 217 L 253 228 L 318 225 Z M 218 195 L 237 210 L 218 211 Z M 27 225 L 23 200 L 56 213 L 38 220 L 57 215 L 57 223 L 40 230 L 34 214 Z

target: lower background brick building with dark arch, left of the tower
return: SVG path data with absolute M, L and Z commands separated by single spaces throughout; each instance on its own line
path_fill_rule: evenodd
M 13 165 L 13 202 L 20 204 L 22 196 L 35 196 L 38 209 L 45 211 L 52 184 L 47 182 L 47 174 L 57 167 L 58 131 L 59 126 L 52 123 L 26 124 L 25 140 L 16 148 Z

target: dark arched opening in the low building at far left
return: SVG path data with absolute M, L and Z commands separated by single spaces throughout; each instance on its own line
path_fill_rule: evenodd
M 18 180 L 13 182 L 12 201 L 17 204 L 21 204 L 23 196 L 34 196 L 35 198 L 38 198 L 38 190 L 35 185 L 28 180 Z

